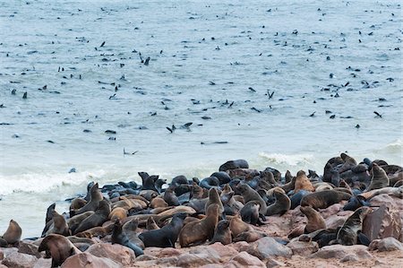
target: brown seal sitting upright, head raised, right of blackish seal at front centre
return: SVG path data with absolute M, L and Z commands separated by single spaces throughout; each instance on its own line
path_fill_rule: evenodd
M 218 222 L 219 204 L 212 203 L 207 208 L 206 218 L 184 225 L 184 228 L 179 233 L 179 244 L 181 247 L 185 247 L 192 244 L 201 244 L 207 239 L 211 240 Z

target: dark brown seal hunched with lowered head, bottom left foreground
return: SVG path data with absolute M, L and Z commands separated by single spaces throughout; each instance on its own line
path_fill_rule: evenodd
M 50 253 L 52 256 L 51 267 L 59 267 L 69 256 L 81 253 L 69 239 L 57 234 L 51 234 L 43 238 L 38 251 L 47 251 Z

